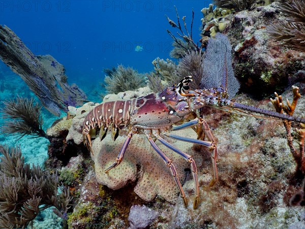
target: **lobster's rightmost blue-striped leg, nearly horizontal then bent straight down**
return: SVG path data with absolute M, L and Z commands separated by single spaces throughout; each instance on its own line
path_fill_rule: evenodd
M 207 136 L 209 134 L 210 133 L 207 133 Z M 212 151 L 211 160 L 212 160 L 213 171 L 214 171 L 214 179 L 215 179 L 214 181 L 212 181 L 210 183 L 210 185 L 213 185 L 218 180 L 218 172 L 217 172 L 217 165 L 216 165 L 217 147 L 216 147 L 214 141 L 203 141 L 203 140 L 193 139 L 193 138 L 189 138 L 189 137 L 181 137 L 181 136 L 174 135 L 174 134 L 169 134 L 169 133 L 165 133 L 165 135 L 168 136 L 168 137 L 174 138 L 176 140 L 187 141 L 187 142 L 199 144 L 199 145 L 202 145 L 204 147 L 209 148 Z

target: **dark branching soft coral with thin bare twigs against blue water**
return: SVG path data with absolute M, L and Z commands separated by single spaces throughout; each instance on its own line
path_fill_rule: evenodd
M 169 24 L 174 27 L 174 28 L 178 28 L 178 30 L 180 31 L 177 32 L 177 35 L 180 38 L 177 38 L 173 35 L 172 32 L 170 32 L 169 30 L 166 30 L 167 33 L 171 36 L 171 38 L 174 40 L 173 42 L 173 46 L 174 49 L 170 52 L 170 56 L 172 58 L 182 58 L 182 56 L 185 55 L 186 52 L 188 52 L 189 50 L 200 50 L 200 47 L 198 47 L 198 43 L 196 44 L 193 40 L 193 21 L 194 21 L 194 10 L 192 10 L 192 22 L 191 22 L 191 30 L 189 32 L 188 28 L 187 28 L 187 23 L 186 23 L 186 16 L 182 17 L 182 21 L 184 24 L 184 28 L 185 28 L 185 32 L 182 29 L 182 26 L 180 24 L 180 19 L 179 19 L 179 15 L 178 15 L 178 10 L 175 7 L 176 10 L 176 17 L 177 17 L 177 23 L 175 23 L 173 20 L 171 20 L 167 15 L 166 18 L 169 22 Z

